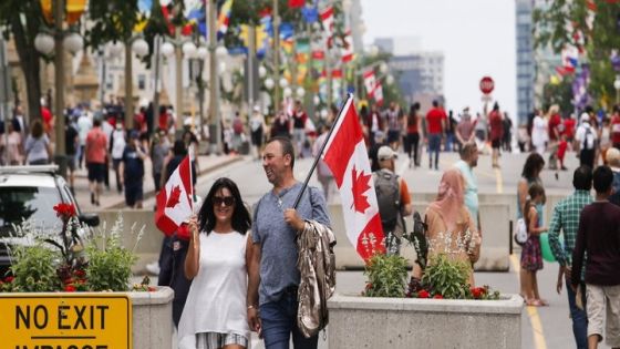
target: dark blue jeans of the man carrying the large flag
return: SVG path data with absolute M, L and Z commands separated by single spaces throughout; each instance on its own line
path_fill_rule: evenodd
M 319 336 L 303 337 L 297 327 L 297 287 L 289 287 L 277 301 L 260 306 L 262 337 L 267 349 L 288 349 L 290 335 L 294 349 L 316 349 Z

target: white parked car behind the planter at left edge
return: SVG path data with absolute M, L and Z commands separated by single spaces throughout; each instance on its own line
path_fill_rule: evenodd
M 66 182 L 56 174 L 56 165 L 0 167 L 0 277 L 11 265 L 7 238 L 14 236 L 13 225 L 29 222 L 43 232 L 60 233 L 62 222 L 53 207 L 75 205 L 80 222 L 99 225 L 99 215 L 83 214 Z

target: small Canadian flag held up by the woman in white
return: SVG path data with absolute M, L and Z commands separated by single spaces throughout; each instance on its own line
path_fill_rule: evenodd
M 157 194 L 155 225 L 168 236 L 173 235 L 193 213 L 190 168 L 189 156 L 185 156 Z

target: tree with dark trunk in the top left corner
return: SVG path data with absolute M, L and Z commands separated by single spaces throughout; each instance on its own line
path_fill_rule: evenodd
M 20 68 L 25 79 L 30 120 L 41 119 L 41 54 L 34 49 L 34 38 L 48 27 L 39 1 L 0 1 L 0 28 L 7 40 L 13 40 Z

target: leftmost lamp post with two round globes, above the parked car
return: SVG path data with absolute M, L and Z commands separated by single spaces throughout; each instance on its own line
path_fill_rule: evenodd
M 55 115 L 55 148 L 54 162 L 59 165 L 59 173 L 66 177 L 66 150 L 64 144 L 64 54 L 63 48 L 72 53 L 82 50 L 84 42 L 80 34 L 74 32 L 63 31 L 64 21 L 64 1 L 53 0 L 52 12 L 54 18 L 54 28 L 52 35 L 46 32 L 40 32 L 34 38 L 34 48 L 43 53 L 54 54 L 54 106 L 53 112 Z

